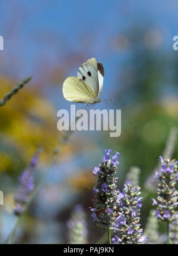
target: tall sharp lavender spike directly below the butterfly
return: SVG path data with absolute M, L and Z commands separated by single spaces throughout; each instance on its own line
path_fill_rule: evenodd
M 111 152 L 111 149 L 105 149 L 101 164 L 93 170 L 97 185 L 94 187 L 94 208 L 90 207 L 94 222 L 105 229 L 113 229 L 119 202 L 115 177 L 119 153 L 115 152 L 111 158 Z

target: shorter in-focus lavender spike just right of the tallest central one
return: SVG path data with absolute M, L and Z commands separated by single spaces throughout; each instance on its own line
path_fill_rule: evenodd
M 145 243 L 146 236 L 142 236 L 143 230 L 140 228 L 140 210 L 142 197 L 138 186 L 132 187 L 126 184 L 122 193 L 119 195 L 119 210 L 115 220 L 115 236 L 113 243 Z

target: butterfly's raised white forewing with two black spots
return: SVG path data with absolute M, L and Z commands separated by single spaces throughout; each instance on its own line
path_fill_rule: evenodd
M 77 76 L 80 77 L 98 96 L 99 83 L 98 83 L 98 67 L 96 58 L 91 58 L 85 61 L 84 64 L 78 69 Z

